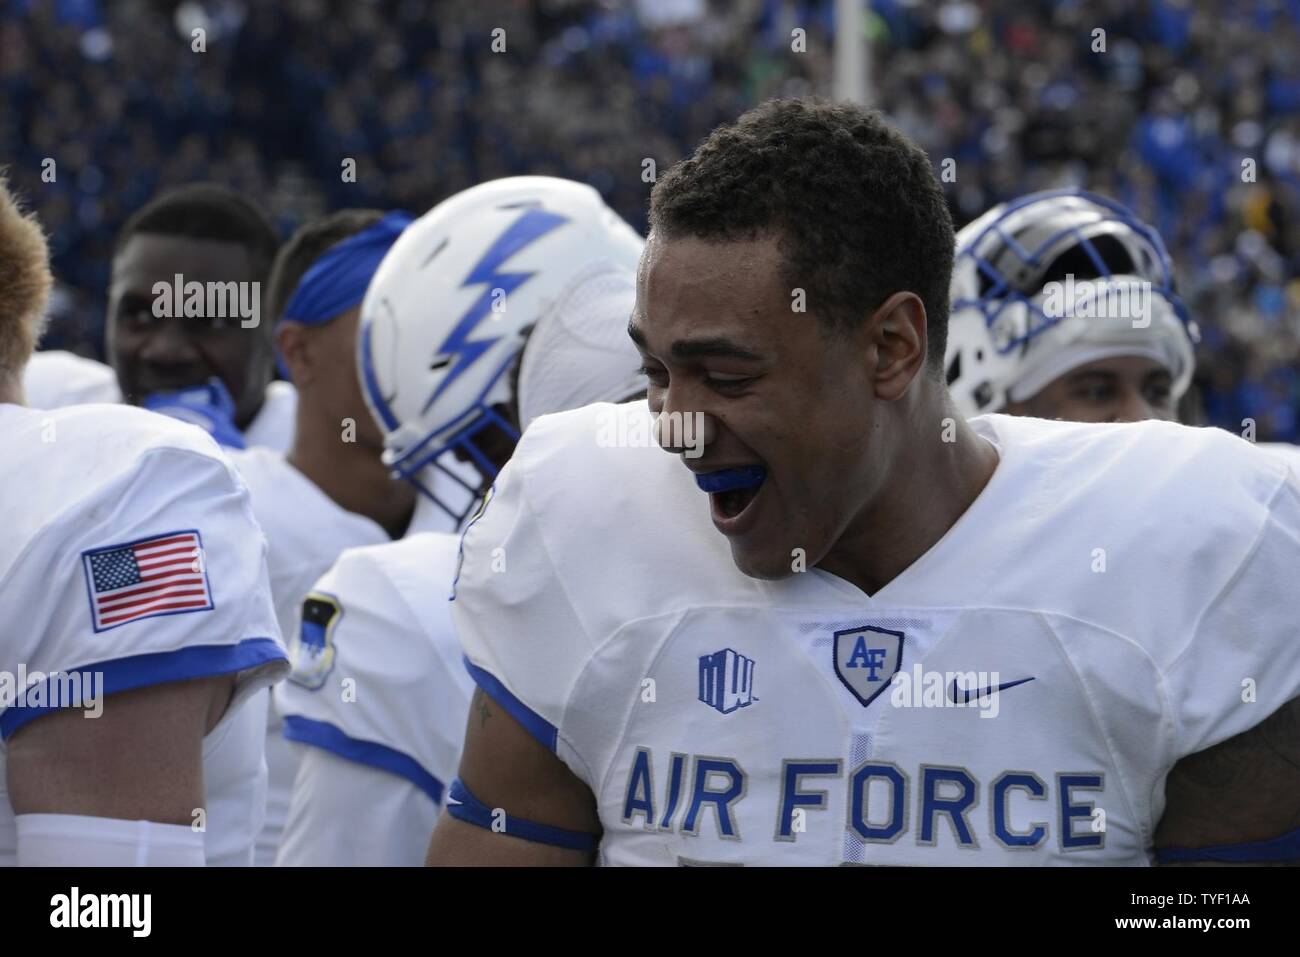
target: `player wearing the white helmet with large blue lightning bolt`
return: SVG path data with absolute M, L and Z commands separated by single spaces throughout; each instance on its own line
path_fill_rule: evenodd
M 511 426 L 526 425 L 642 390 L 624 332 L 641 246 L 595 190 L 563 179 L 499 179 L 436 207 L 403 235 L 367 294 L 363 341 L 400 342 L 410 359 L 369 367 L 376 421 L 384 423 L 382 397 L 399 397 L 387 408 L 399 423 L 387 432 L 394 443 L 429 436 L 428 450 L 476 460 L 465 445 L 498 412 Z M 481 309 L 484 290 L 467 282 L 488 273 L 498 274 L 497 287 L 510 282 L 498 309 Z M 463 369 L 443 363 L 443 374 L 430 377 L 458 337 L 488 347 Z M 438 437 L 447 421 L 458 423 L 451 442 Z M 508 445 L 499 430 L 493 437 L 498 449 L 514 446 L 512 434 Z M 485 480 L 494 475 L 484 465 Z M 416 480 L 429 486 L 438 475 L 425 465 Z M 424 859 L 473 689 L 448 616 L 458 550 L 458 537 L 445 533 L 350 549 L 307 598 L 294 674 L 276 694 L 303 752 L 278 863 Z

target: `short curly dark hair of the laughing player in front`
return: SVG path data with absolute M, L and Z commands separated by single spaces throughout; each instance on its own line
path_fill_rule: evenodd
M 650 228 L 722 241 L 775 234 L 783 281 L 832 330 L 915 293 L 927 367 L 942 371 L 953 220 L 930 157 L 878 111 L 815 98 L 750 109 L 659 178 Z

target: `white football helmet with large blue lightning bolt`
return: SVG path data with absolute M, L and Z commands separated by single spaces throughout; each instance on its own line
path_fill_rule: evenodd
M 485 430 L 519 438 L 500 407 L 528 330 L 593 267 L 634 270 L 642 246 L 595 190 L 551 177 L 481 183 L 410 225 L 370 281 L 358 334 L 361 391 L 393 475 L 459 524 L 473 506 L 465 493 L 497 475 Z

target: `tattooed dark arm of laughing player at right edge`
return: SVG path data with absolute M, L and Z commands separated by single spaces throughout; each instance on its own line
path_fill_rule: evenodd
M 1300 698 L 1179 761 L 1165 794 L 1156 828 L 1161 865 L 1300 862 Z M 1273 853 L 1279 859 L 1266 859 Z

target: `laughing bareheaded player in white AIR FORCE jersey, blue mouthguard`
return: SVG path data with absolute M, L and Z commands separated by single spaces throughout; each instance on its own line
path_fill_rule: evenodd
M 1300 694 L 1300 485 L 1213 429 L 967 424 L 952 255 L 857 107 L 770 101 L 659 178 L 649 411 L 534 423 L 465 533 L 432 862 L 1147 863 L 1191 813 L 1297 856 L 1294 788 L 1165 781 Z

